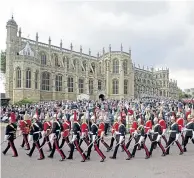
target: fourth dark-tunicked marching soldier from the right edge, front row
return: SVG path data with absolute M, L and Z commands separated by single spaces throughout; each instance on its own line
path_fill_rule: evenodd
M 133 148 L 133 151 L 132 151 L 132 157 L 135 157 L 135 153 L 136 153 L 136 150 L 137 150 L 137 147 L 138 145 L 142 145 L 144 150 L 145 150 L 145 153 L 146 153 L 146 157 L 145 159 L 148 159 L 150 157 L 149 155 L 149 151 L 145 145 L 145 129 L 144 129 L 144 125 L 142 125 L 141 123 L 141 119 L 138 119 L 138 128 L 137 128 L 137 132 L 135 133 L 135 146 Z

